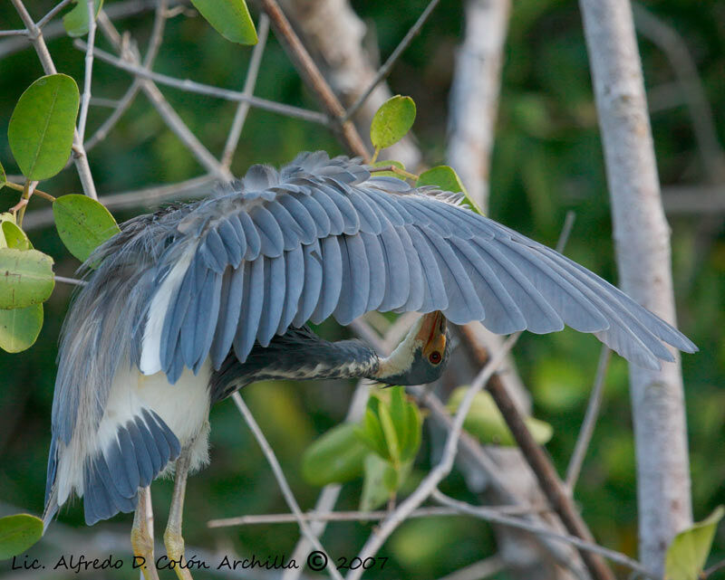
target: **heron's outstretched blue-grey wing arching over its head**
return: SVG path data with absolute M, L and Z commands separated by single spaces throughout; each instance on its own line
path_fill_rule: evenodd
M 696 350 L 608 282 L 451 194 L 322 152 L 279 172 L 251 167 L 186 206 L 163 243 L 136 349 L 144 373 L 172 382 L 209 355 L 220 366 L 231 347 L 244 361 L 290 325 L 375 309 L 440 309 L 499 334 L 567 325 L 645 367 L 672 360 L 662 341 Z

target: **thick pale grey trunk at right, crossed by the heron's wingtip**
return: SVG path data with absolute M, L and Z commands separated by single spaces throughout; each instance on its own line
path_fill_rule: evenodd
M 662 210 L 642 63 L 627 0 L 580 0 L 612 198 L 621 286 L 674 323 L 670 231 Z M 691 525 L 690 468 L 679 358 L 630 366 L 640 558 L 662 574 L 672 537 Z

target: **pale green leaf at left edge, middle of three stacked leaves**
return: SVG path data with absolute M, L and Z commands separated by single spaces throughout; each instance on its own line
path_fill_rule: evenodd
M 0 249 L 0 309 L 20 309 L 48 300 L 53 258 L 37 250 Z

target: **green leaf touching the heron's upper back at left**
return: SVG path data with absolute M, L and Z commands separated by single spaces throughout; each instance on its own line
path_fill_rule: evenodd
M 80 261 L 121 232 L 116 220 L 102 204 L 86 195 L 63 195 L 53 202 L 55 227 L 61 240 Z

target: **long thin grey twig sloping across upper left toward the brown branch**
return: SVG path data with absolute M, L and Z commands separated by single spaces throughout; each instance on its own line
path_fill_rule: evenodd
M 14 0 L 16 1 L 16 0 Z M 76 41 L 75 44 L 85 49 L 85 43 L 82 41 Z M 287 117 L 294 117 L 295 119 L 304 119 L 313 123 L 319 123 L 320 125 L 329 126 L 330 119 L 323 113 L 318 113 L 314 110 L 302 109 L 300 107 L 293 107 L 291 105 L 285 105 L 283 103 L 275 102 L 274 100 L 260 99 L 259 97 L 251 97 L 245 95 L 243 92 L 237 90 L 220 89 L 211 85 L 202 84 L 201 82 L 189 81 L 189 79 L 179 80 L 174 77 L 169 77 L 166 74 L 160 74 L 158 72 L 146 71 L 142 66 L 133 64 L 131 62 L 122 61 L 116 58 L 108 52 L 102 51 L 98 48 L 93 50 L 93 55 L 102 62 L 107 62 L 121 71 L 129 72 L 133 75 L 141 77 L 142 79 L 150 79 L 151 81 L 158 82 L 175 89 L 185 90 L 187 92 L 196 92 L 200 95 L 208 95 L 209 97 L 216 97 L 224 100 L 234 101 L 245 101 L 248 102 L 252 107 L 257 109 L 264 109 L 273 113 L 279 113 Z

